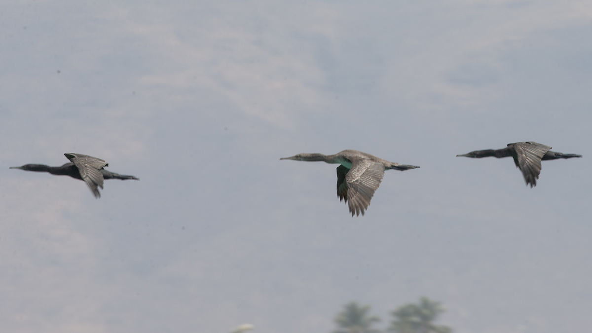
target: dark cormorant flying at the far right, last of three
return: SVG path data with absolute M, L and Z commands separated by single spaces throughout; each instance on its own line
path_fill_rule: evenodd
M 533 186 L 536 186 L 536 180 L 539 179 L 540 169 L 542 168 L 540 166 L 540 161 L 558 158 L 582 157 L 582 155 L 577 154 L 552 152 L 550 149 L 552 149 L 552 147 L 545 146 L 542 143 L 527 141 L 508 143 L 507 148 L 503 149 L 487 149 L 485 151 L 474 151 L 464 155 L 456 156 L 470 158 L 491 156 L 496 158 L 504 158 L 512 156 L 514 158 L 514 164 L 516 164 L 516 168 L 519 168 L 520 171 L 522 171 L 526 185 L 530 184 L 530 188 L 532 188 Z

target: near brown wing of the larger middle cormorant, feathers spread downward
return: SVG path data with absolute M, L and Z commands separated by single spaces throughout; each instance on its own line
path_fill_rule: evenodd
M 352 216 L 360 213 L 363 215 L 374 196 L 374 191 L 378 189 L 384 177 L 384 165 L 362 158 L 351 159 L 351 161 L 352 168 L 345 175 L 349 212 Z

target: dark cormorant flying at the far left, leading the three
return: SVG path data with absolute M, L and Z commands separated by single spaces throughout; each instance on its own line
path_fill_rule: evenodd
M 44 164 L 25 164 L 22 167 L 10 167 L 10 169 L 21 169 L 26 171 L 49 172 L 52 175 L 66 175 L 72 178 L 83 180 L 91 189 L 95 198 L 100 198 L 98 187 L 103 188 L 103 180 L 105 179 L 120 179 L 120 180 L 139 180 L 134 176 L 120 175 L 115 172 L 110 172 L 104 169 L 109 164 L 104 160 L 88 155 L 78 153 L 65 153 L 70 163 L 62 165 L 62 167 L 49 167 Z

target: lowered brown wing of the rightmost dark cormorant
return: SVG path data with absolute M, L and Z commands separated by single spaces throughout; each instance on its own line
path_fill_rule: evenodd
M 526 185 L 530 184 L 531 188 L 536 186 L 536 180 L 539 179 L 541 169 L 540 161 L 549 149 L 551 147 L 536 142 L 514 143 L 514 150 L 516 151 L 514 163 L 522 171 Z

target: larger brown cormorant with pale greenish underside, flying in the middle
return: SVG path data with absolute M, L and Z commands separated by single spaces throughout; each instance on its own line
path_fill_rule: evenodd
M 369 153 L 346 150 L 335 155 L 323 155 L 320 153 L 301 153 L 292 157 L 294 161 L 324 161 L 330 164 L 340 164 L 337 167 L 337 196 L 339 201 L 345 200 L 349 204 L 349 212 L 352 216 L 362 216 L 378 189 L 384 171 L 396 169 L 400 171 L 419 168 L 415 165 L 398 164 L 385 159 L 372 156 Z M 348 202 L 349 201 L 349 202 Z

